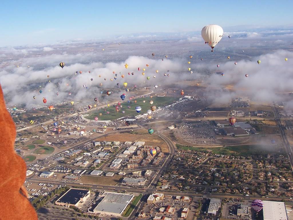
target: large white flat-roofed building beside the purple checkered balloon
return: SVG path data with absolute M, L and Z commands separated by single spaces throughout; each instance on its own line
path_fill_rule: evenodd
M 263 220 L 288 220 L 285 202 L 263 201 Z

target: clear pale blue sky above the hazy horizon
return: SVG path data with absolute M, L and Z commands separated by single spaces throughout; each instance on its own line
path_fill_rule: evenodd
M 289 26 L 293 1 L 5 1 L 0 47 L 113 35 L 199 31 L 207 24 Z M 224 29 L 225 31 L 225 29 Z

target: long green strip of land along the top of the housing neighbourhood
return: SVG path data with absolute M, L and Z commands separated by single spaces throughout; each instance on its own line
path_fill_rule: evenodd
M 224 154 L 224 155 L 265 155 L 268 153 L 280 153 L 278 150 L 282 150 L 275 146 L 261 145 L 261 144 L 247 144 L 247 145 L 235 145 L 225 146 L 216 148 L 198 148 L 198 147 L 187 147 L 176 144 L 176 147 L 181 150 L 194 150 L 194 151 L 208 151 L 213 154 Z

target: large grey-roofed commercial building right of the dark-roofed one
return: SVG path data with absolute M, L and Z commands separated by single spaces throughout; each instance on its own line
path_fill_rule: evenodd
M 131 203 L 134 195 L 117 193 L 117 192 L 104 192 L 101 195 L 101 200 L 93 209 L 93 213 L 100 213 L 101 215 L 122 216 L 123 211 Z

